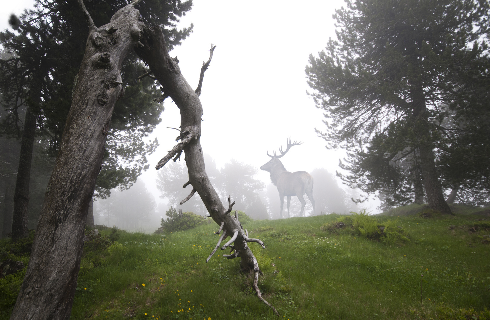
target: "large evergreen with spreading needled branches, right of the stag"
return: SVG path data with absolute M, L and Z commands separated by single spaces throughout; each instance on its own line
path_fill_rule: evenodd
M 450 213 L 436 160 L 460 136 L 454 115 L 477 113 L 468 102 L 482 97 L 464 86 L 488 73 L 488 13 L 483 0 L 346 0 L 336 10 L 338 40 L 310 55 L 306 73 L 325 110 L 319 135 L 349 151 L 348 185 L 391 205 L 425 189 L 433 209 Z

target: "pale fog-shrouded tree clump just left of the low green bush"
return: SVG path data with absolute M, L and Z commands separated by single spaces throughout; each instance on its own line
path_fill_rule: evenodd
M 113 190 L 107 199 L 94 202 L 94 207 L 98 224 L 115 224 L 128 231 L 143 230 L 151 229 L 150 221 L 155 215 L 156 202 L 145 183 L 138 180 L 128 190 Z

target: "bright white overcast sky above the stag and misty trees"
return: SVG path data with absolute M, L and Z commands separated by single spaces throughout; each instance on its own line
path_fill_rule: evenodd
M 20 14 L 32 3 L 3 0 L 0 29 L 8 27 L 11 13 Z M 342 0 L 194 1 L 179 24 L 194 23 L 194 32 L 171 55 L 178 57 L 182 74 L 196 88 L 210 44 L 217 46 L 200 99 L 201 145 L 218 168 L 232 158 L 259 168 L 270 159 L 266 151 L 278 151 L 291 136 L 303 144 L 281 158 L 288 171 L 340 170 L 344 151 L 327 150 L 315 133 L 315 128 L 324 129 L 324 118 L 306 94 L 304 70 L 309 54 L 317 55 L 329 37 L 336 37 L 332 14 L 342 5 Z M 179 124 L 178 109 L 167 99 L 162 123 L 149 137 L 157 137 L 160 147 L 148 158 L 150 169 L 140 178 L 157 201 L 153 167 L 175 144 L 177 131 L 166 127 Z M 268 172 L 259 170 L 257 177 L 270 182 Z M 373 213 L 377 205 L 377 199 L 364 204 Z

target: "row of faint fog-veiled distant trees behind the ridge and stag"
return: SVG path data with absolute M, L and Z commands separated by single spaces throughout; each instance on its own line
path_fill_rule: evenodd
M 277 188 L 268 183 L 267 186 L 256 178 L 257 168 L 244 164 L 235 159 L 225 163 L 218 169 L 216 162 L 205 155 L 207 172 L 210 180 L 226 203 L 228 195 L 235 201 L 234 209 L 244 211 L 253 219 L 279 219 L 280 199 Z M 357 197 L 355 193 L 341 188 L 334 174 L 323 168 L 311 172 L 314 178 L 313 196 L 316 203 L 316 214 L 349 214 L 359 208 L 351 201 Z M 188 180 L 187 168 L 180 162 L 170 162 L 162 168 L 156 177 L 156 185 L 160 194 L 160 203 L 157 205 L 153 195 L 147 190 L 145 182 L 141 179 L 128 190 L 112 190 L 107 199 L 98 199 L 94 202 L 94 219 L 96 224 L 107 226 L 116 225 L 127 231 L 154 232 L 160 226 L 161 218 L 171 206 L 183 212 L 194 212 L 207 216 L 199 195 L 196 193 L 183 204 L 191 187 L 182 188 Z M 305 197 L 305 216 L 312 216 L 313 206 Z M 283 218 L 287 217 L 287 198 L 284 201 Z M 299 217 L 301 203 L 297 197 L 292 197 L 290 217 Z

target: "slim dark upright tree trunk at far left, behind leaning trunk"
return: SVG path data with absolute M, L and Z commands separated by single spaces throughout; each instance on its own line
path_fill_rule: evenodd
M 34 96 L 36 96 L 34 94 Z M 37 95 L 37 104 L 39 104 Z M 17 182 L 14 193 L 14 214 L 12 219 L 12 239 L 17 241 L 29 235 L 27 229 L 29 206 L 29 182 L 32 165 L 32 149 L 34 147 L 34 136 L 36 134 L 36 114 L 34 113 L 35 102 L 27 105 L 25 112 L 24 130 L 22 132 L 21 152 L 19 156 L 19 169 L 17 170 Z

